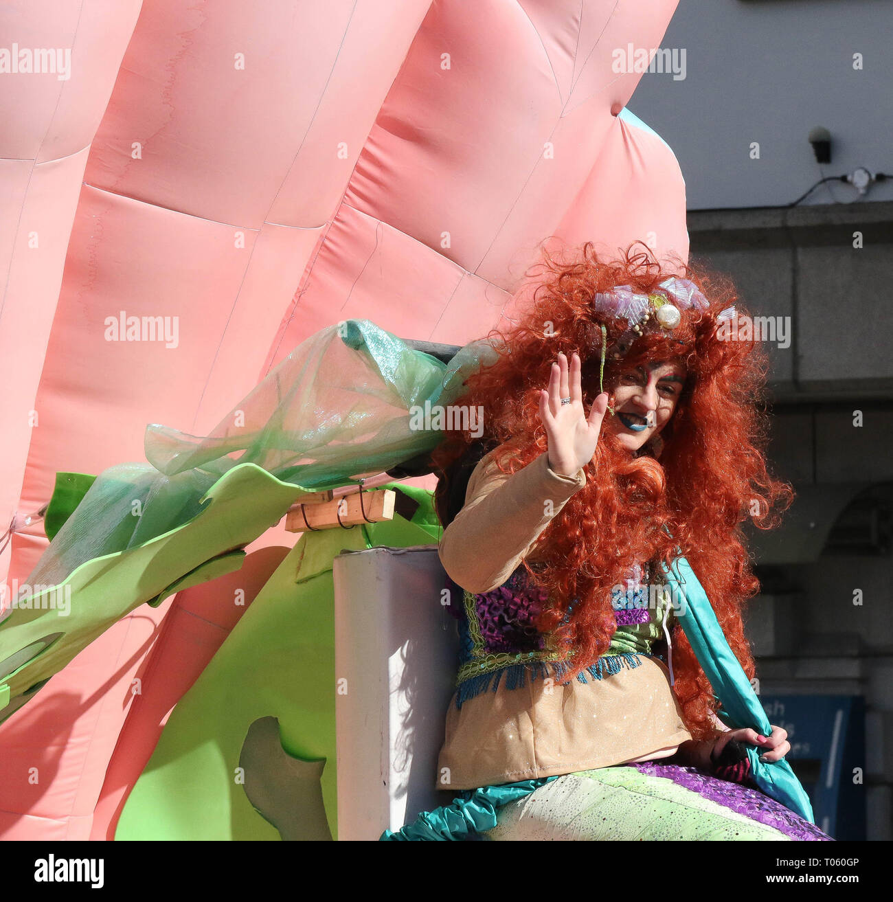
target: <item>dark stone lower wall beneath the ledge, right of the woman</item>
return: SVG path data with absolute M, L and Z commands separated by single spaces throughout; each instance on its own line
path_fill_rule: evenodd
M 828 539 L 865 491 L 893 521 L 893 203 L 690 212 L 688 230 L 693 258 L 730 275 L 752 314 L 790 318 L 793 336 L 766 347 L 769 457 L 797 501 L 781 529 L 750 537 L 765 593 L 747 617 L 760 694 L 863 696 L 867 835 L 889 840 L 893 557 Z M 866 521 L 855 518 L 857 535 Z

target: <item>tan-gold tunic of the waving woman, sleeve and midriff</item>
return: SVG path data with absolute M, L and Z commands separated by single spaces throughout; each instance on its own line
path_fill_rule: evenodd
M 530 546 L 585 485 L 582 469 L 555 473 L 540 455 L 515 474 L 493 462 L 497 448 L 475 467 L 465 506 L 444 531 L 438 552 L 447 575 L 474 594 L 502 585 Z M 672 611 L 641 624 L 642 638 Z M 630 633 L 630 630 L 626 630 Z M 624 640 L 639 644 L 636 630 Z M 621 636 L 618 634 L 618 640 Z M 669 673 L 655 658 L 602 679 L 561 685 L 527 681 L 487 690 L 446 715 L 446 740 L 437 760 L 437 788 L 474 789 L 575 770 L 664 758 L 691 739 Z

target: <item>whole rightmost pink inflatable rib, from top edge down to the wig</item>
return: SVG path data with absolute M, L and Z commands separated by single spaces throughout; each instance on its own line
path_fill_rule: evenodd
M 677 162 L 615 118 L 640 74 L 612 71 L 616 47 L 657 47 L 675 8 L 480 0 L 469 28 L 467 6 L 433 5 L 268 368 L 333 316 L 373 316 L 398 335 L 456 344 L 481 336 L 548 235 L 615 246 L 647 221 L 659 254 L 685 256 Z M 604 211 L 630 205 L 631 187 L 646 208 L 623 212 L 618 230 Z

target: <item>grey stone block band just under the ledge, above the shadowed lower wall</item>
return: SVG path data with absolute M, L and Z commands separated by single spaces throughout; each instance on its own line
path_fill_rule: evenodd
M 775 400 L 893 399 L 893 203 L 691 211 L 688 233 L 742 310 L 784 324 L 763 343 Z

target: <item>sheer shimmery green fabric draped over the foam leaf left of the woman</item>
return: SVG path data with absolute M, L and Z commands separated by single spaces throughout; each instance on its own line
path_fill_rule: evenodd
M 235 405 L 207 437 L 146 429 L 148 464 L 97 477 L 41 556 L 28 582 L 62 583 L 96 557 L 136 548 L 196 517 L 217 480 L 255 464 L 307 491 L 380 474 L 437 446 L 442 432 L 413 428 L 414 406 L 448 406 L 465 378 L 496 357 L 474 342 L 450 364 L 367 319 L 309 336 Z M 272 523 L 270 524 L 273 525 Z

